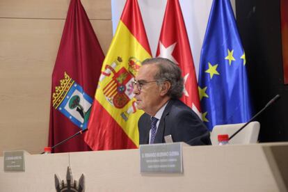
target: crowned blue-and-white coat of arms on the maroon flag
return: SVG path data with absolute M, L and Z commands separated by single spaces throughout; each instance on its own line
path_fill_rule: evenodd
M 53 93 L 53 107 L 80 129 L 86 129 L 93 99 L 65 72 Z

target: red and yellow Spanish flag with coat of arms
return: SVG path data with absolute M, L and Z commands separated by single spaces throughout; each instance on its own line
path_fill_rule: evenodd
M 138 119 L 133 86 L 141 62 L 151 57 L 136 0 L 127 0 L 118 28 L 102 65 L 86 143 L 93 150 L 138 147 Z

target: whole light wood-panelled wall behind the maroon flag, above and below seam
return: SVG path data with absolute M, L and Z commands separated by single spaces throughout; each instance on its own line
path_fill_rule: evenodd
M 81 1 L 104 54 L 112 40 L 111 1 Z M 47 145 L 51 72 L 70 0 L 0 1 L 0 155 Z

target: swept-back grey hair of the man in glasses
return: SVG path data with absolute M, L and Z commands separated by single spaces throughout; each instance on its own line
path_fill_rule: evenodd
M 168 90 L 167 95 L 171 99 L 179 99 L 182 97 L 184 84 L 183 84 L 183 78 L 182 78 L 182 71 L 176 65 L 173 63 L 173 61 L 170 61 L 167 58 L 147 58 L 145 61 L 143 61 L 142 65 L 157 65 L 159 68 L 157 74 L 155 74 L 155 81 L 157 81 L 158 84 L 161 84 L 163 81 L 169 81 L 171 84 L 170 89 Z

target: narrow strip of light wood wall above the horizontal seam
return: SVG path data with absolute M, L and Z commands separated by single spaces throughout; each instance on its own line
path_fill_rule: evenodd
M 111 20 L 111 1 L 82 0 L 90 19 Z M 0 17 L 65 19 L 69 0 L 1 0 Z

